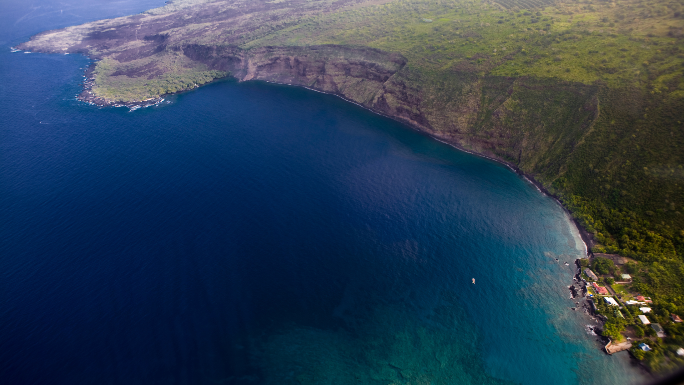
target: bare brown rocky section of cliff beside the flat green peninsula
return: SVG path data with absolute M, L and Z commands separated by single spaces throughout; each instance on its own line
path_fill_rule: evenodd
M 236 47 L 190 45 L 183 53 L 210 69 L 229 71 L 240 81 L 305 86 L 339 95 L 430 132 L 421 112 L 421 90 L 410 86 L 401 73 L 406 58 L 366 47 L 324 45 L 313 47 Z

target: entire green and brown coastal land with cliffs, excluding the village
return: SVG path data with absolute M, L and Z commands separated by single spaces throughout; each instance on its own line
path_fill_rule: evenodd
M 265 79 L 508 162 L 559 197 L 594 251 L 640 262 L 626 295 L 653 297 L 665 320 L 684 315 L 683 12 L 682 1 L 186 0 L 20 48 L 100 60 L 81 95 L 96 103 Z M 668 349 L 643 359 L 666 370 Z

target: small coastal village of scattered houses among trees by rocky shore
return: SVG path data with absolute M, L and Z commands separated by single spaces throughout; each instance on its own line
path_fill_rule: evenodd
M 603 323 L 595 332 L 607 342 L 606 353 L 629 350 L 647 368 L 684 362 L 684 314 L 675 314 L 670 303 L 654 303 L 637 291 L 639 275 L 644 273 L 639 262 L 605 253 L 575 262 L 579 288 L 570 286 L 570 291 L 573 298 L 586 297 L 586 310 Z

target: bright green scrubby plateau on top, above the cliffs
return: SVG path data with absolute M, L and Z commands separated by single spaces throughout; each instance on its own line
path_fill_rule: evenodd
M 421 69 L 613 86 L 645 82 L 654 93 L 678 77 L 671 67 L 681 64 L 682 51 L 668 34 L 681 33 L 681 18 L 673 18 L 680 3 L 545 5 L 524 10 L 485 1 L 399 0 L 311 17 L 265 36 L 258 30 L 245 36 L 244 47 L 363 45 L 402 53 Z M 659 76 L 650 79 L 653 73 Z M 670 86 L 684 93 L 679 81 Z

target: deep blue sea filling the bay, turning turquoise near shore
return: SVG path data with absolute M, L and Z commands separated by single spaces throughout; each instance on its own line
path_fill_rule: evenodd
M 577 230 L 505 166 L 262 82 L 96 108 L 86 58 L 9 50 L 159 5 L 0 4 L 1 383 L 643 380 L 570 310 Z

